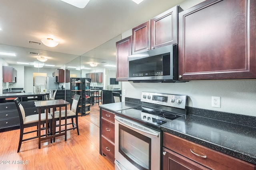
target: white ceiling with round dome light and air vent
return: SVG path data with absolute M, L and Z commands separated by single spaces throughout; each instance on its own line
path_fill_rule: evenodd
M 90 0 L 80 9 L 61 0 L 0 0 L 0 51 L 16 53 L 0 58 L 9 64 L 33 63 L 36 56 L 28 52 L 35 52 L 48 58 L 46 64 L 60 67 L 183 1 Z M 28 43 L 43 38 L 59 45 Z

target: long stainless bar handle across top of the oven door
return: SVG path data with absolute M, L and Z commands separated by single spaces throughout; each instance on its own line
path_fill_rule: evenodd
M 134 121 L 130 121 L 128 119 L 125 119 L 125 118 L 121 118 L 121 117 L 117 117 L 115 116 L 115 119 L 120 122 L 120 123 L 123 123 L 124 125 L 132 128 L 132 129 L 136 129 L 138 131 L 141 131 L 141 132 L 144 132 L 144 133 L 147 133 L 147 134 L 150 134 L 150 135 L 153 135 L 155 137 L 159 137 L 159 133 L 156 133 L 154 130 L 152 129 L 149 129 L 147 127 L 144 127 L 143 125 L 139 124 L 139 123 L 136 123 Z M 141 127 L 141 128 L 138 128 L 138 127 Z

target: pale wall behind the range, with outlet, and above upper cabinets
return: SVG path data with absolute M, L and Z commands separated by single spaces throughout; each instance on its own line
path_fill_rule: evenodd
M 203 0 L 186 0 L 180 4 L 186 10 Z M 128 30 L 122 38 L 130 36 Z M 192 80 L 186 83 L 122 82 L 125 97 L 140 99 L 141 92 L 188 95 L 188 106 L 216 111 L 256 116 L 256 79 L 254 80 Z M 211 107 L 212 96 L 221 97 L 221 108 Z

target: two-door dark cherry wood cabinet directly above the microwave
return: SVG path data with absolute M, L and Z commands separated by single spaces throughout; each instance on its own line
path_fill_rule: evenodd
M 132 54 L 178 43 L 179 6 L 159 14 L 132 29 Z

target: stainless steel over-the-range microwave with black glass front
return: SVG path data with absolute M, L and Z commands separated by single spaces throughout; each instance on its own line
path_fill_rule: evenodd
M 178 45 L 168 45 L 128 56 L 128 81 L 176 82 Z

